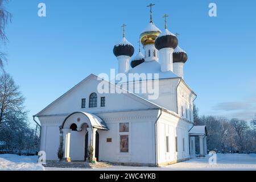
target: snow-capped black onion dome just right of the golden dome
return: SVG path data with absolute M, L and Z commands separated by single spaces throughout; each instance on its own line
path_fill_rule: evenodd
M 155 47 L 158 50 L 162 48 L 167 48 L 167 47 L 175 49 L 177 47 L 177 44 L 178 44 L 177 37 L 167 29 L 165 29 L 162 32 L 162 34 L 160 34 L 158 38 L 156 38 L 155 40 Z

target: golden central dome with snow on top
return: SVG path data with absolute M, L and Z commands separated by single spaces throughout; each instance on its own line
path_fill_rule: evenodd
M 156 27 L 153 22 L 148 23 L 147 27 L 140 36 L 142 45 L 146 46 L 148 44 L 155 44 L 155 39 L 159 34 L 161 34 L 159 28 Z

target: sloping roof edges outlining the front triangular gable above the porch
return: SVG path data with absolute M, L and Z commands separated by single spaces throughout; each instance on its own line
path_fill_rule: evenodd
M 51 106 L 52 106 L 53 104 L 55 104 L 57 101 L 61 100 L 61 98 L 65 97 L 67 94 L 71 93 L 71 92 L 72 92 L 73 90 L 75 90 L 78 86 L 80 86 L 83 82 L 89 80 L 89 79 L 92 78 L 92 77 L 95 77 L 95 78 L 99 78 L 99 79 L 101 79 L 101 80 L 104 80 L 103 78 L 100 78 L 100 77 L 98 77 L 98 76 L 96 76 L 96 75 L 94 75 L 94 74 L 90 74 L 88 77 L 84 78 L 84 80 L 82 80 L 81 82 L 79 82 L 79 84 L 73 86 L 73 88 L 71 88 L 70 90 L 68 90 L 68 92 L 64 93 L 62 96 L 60 96 L 59 98 L 57 98 L 57 99 L 56 99 L 55 101 L 53 101 L 51 104 L 49 104 L 48 106 L 46 106 L 43 110 L 41 110 L 41 111 L 40 111 L 38 114 L 36 114 L 35 116 L 36 116 L 36 117 L 39 117 L 39 116 L 40 116 L 44 111 L 46 111 L 49 107 L 51 107 Z M 106 81 L 106 80 L 104 80 L 104 81 Z M 115 87 L 117 87 L 117 88 L 119 88 L 119 89 L 121 89 L 121 90 L 124 90 L 124 91 L 126 92 L 126 94 L 129 94 L 129 96 L 131 96 L 131 97 L 137 99 L 138 101 L 142 102 L 143 104 L 153 106 L 153 107 L 156 108 L 156 109 L 162 108 L 162 107 L 160 107 L 160 106 L 154 104 L 153 102 L 150 102 L 150 101 L 148 101 L 148 100 L 146 100 L 146 99 L 144 99 L 144 98 L 142 98 L 142 97 L 137 96 L 137 95 L 134 94 L 134 93 L 131 93 L 131 92 L 129 92 L 129 91 L 127 91 L 127 90 L 125 90 L 125 89 L 119 87 L 118 85 L 113 84 L 112 82 L 109 82 L 109 81 L 106 81 L 106 82 L 108 82 L 108 83 L 111 84 L 111 85 L 114 85 Z

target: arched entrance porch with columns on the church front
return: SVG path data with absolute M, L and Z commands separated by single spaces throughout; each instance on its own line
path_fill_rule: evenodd
M 60 126 L 60 148 L 67 162 L 88 160 L 92 147 L 92 161 L 99 159 L 99 133 L 109 130 L 106 123 L 94 114 L 75 112 L 68 115 Z M 59 149 L 60 150 L 60 149 Z

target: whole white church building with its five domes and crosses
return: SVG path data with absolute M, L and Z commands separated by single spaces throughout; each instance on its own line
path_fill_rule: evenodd
M 205 126 L 193 125 L 196 94 L 184 81 L 188 57 L 177 36 L 167 26 L 162 31 L 157 28 L 151 14 L 140 43 L 144 51 L 139 48 L 133 57 L 134 47 L 123 31 L 121 42 L 114 46 L 117 77 L 122 81 L 89 75 L 35 115 L 46 160 L 59 160 L 60 138 L 63 160 L 71 162 L 88 161 L 92 146 L 96 161 L 166 166 L 195 156 L 195 137 L 199 137 L 200 156 L 207 154 Z M 99 89 L 102 85 L 108 92 Z M 154 88 L 154 93 L 146 87 Z M 147 92 L 137 92 L 141 90 Z

